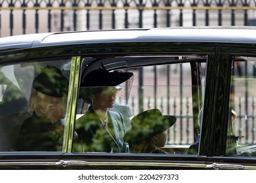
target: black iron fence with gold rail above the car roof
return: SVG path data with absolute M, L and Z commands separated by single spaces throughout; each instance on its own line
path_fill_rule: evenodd
M 255 0 L 1 0 L 0 37 L 81 29 L 253 25 Z

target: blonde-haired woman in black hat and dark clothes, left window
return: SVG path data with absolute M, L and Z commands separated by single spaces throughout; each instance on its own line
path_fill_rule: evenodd
M 68 80 L 60 69 L 47 66 L 33 80 L 28 107 L 32 116 L 24 121 L 18 136 L 18 151 L 62 151 Z

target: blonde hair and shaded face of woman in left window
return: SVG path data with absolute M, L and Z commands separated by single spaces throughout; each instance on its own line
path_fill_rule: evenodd
M 30 95 L 28 107 L 30 112 L 35 112 L 41 118 L 50 118 L 55 108 L 66 111 L 66 102 L 66 97 L 52 97 L 35 91 Z

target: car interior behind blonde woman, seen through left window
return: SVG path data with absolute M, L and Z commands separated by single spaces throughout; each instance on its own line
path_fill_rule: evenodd
M 20 127 L 32 114 L 29 112 L 28 100 L 32 93 L 33 78 L 46 65 L 54 65 L 64 71 L 69 78 L 70 59 L 52 61 L 28 61 L 5 65 L 0 68 L 0 151 L 16 150 Z M 68 69 L 67 69 L 68 68 Z

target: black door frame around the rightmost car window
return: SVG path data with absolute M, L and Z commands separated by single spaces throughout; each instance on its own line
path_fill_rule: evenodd
M 233 44 L 217 46 L 215 60 L 215 82 L 213 84 L 213 108 L 209 112 L 212 124 L 209 130 L 213 131 L 209 138 L 207 151 L 207 169 L 256 169 L 256 158 L 242 156 L 227 156 L 226 141 L 228 131 L 228 116 L 230 114 L 230 84 L 232 75 L 233 56 L 254 56 L 256 48 L 251 44 Z M 250 53 L 250 54 L 248 54 Z M 203 118 L 207 118 L 204 114 Z

